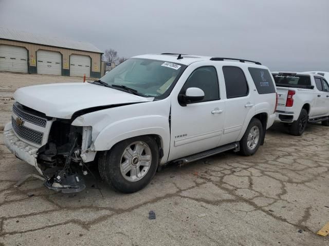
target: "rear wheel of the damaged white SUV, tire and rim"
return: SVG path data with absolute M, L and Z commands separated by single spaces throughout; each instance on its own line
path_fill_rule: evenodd
M 240 140 L 240 154 L 249 156 L 258 150 L 263 135 L 263 126 L 259 119 L 252 118 Z

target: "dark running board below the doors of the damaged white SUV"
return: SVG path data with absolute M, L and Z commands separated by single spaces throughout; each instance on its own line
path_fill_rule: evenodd
M 235 152 L 240 150 L 239 142 L 232 142 L 232 144 L 223 145 L 221 147 L 217 147 L 217 148 L 214 148 L 214 149 L 211 149 L 211 150 L 206 150 L 206 151 L 203 151 L 203 152 L 199 152 L 197 154 L 193 154 L 193 155 L 189 155 L 189 156 L 186 156 L 186 157 L 183 157 L 183 158 L 179 158 L 179 159 L 174 160 L 173 162 L 189 163 L 189 162 L 192 162 L 192 161 L 196 161 L 196 160 L 208 157 L 208 156 L 212 156 L 212 155 L 222 153 L 222 152 L 227 151 L 227 150 L 233 150 L 233 149 L 234 149 Z

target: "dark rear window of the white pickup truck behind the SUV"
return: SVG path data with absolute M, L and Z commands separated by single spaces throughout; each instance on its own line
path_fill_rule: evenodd
M 309 75 L 283 75 L 273 74 L 277 86 L 281 87 L 305 87 L 311 86 Z

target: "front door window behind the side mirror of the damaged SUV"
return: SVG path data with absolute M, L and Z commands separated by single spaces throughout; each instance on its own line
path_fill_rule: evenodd
M 205 98 L 202 101 L 220 99 L 217 72 L 214 67 L 201 67 L 194 70 L 181 89 L 182 93 L 190 87 L 197 87 L 205 92 Z

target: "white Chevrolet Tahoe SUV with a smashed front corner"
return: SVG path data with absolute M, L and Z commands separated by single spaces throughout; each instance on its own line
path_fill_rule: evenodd
M 84 189 L 91 165 L 135 192 L 169 162 L 252 155 L 276 118 L 267 67 L 168 53 L 133 57 L 93 83 L 30 86 L 14 98 L 6 146 L 62 192 Z

